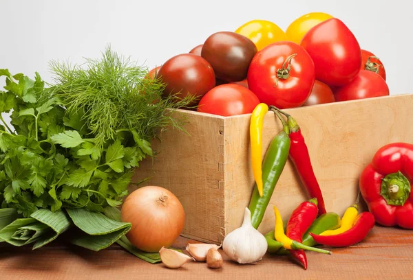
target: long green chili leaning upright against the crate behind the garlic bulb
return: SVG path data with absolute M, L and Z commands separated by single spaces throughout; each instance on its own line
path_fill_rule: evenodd
M 290 137 L 288 137 L 288 126 L 283 120 L 283 130 L 271 141 L 262 163 L 262 196 L 255 186 L 248 209 L 251 211 L 251 224 L 255 229 L 260 226 L 264 213 L 270 202 L 271 196 L 279 176 L 284 170 L 290 151 Z

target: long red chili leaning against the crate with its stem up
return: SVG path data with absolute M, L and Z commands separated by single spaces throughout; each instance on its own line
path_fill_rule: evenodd
M 301 182 L 308 191 L 310 198 L 317 198 L 319 215 L 326 213 L 326 207 L 324 205 L 323 194 L 317 178 L 315 177 L 313 165 L 311 165 L 310 154 L 308 154 L 308 148 L 304 136 L 301 133 L 301 128 L 297 124 L 297 121 L 289 114 L 283 112 L 275 106 L 270 106 L 271 110 L 278 110 L 279 113 L 284 114 L 287 117 L 288 128 L 290 128 L 290 159 L 293 161 L 301 178 Z

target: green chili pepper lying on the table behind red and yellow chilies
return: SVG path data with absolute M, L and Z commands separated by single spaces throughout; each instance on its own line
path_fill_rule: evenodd
M 310 233 L 320 234 L 324 231 L 328 231 L 330 229 L 338 229 L 341 225 L 340 216 L 333 212 L 328 212 L 323 215 L 320 215 L 313 224 L 311 224 L 308 231 L 304 234 L 302 244 L 306 246 L 315 246 L 317 242 L 314 241 L 313 237 Z M 267 233 L 269 234 L 269 233 Z M 268 243 L 268 241 L 267 241 Z M 268 244 L 269 247 L 269 244 Z M 269 250 L 268 250 L 269 252 Z M 280 248 L 276 251 L 277 255 L 288 255 L 288 250 L 285 248 Z

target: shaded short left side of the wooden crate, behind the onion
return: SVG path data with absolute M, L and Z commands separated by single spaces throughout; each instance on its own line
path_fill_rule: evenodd
M 184 207 L 183 235 L 198 240 L 224 236 L 224 118 L 189 110 L 185 132 L 167 130 L 152 142 L 158 152 L 138 168 L 134 180 L 170 189 Z M 176 117 L 181 118 L 176 115 Z M 131 186 L 129 191 L 135 188 Z

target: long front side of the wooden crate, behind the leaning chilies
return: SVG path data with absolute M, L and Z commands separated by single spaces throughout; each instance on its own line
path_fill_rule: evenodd
M 398 95 L 286 110 L 297 120 L 306 139 L 327 211 L 343 215 L 354 203 L 359 174 L 382 145 L 412 141 L 413 129 L 408 129 L 413 125 L 412 108 L 413 95 Z M 251 198 L 254 179 L 251 155 L 245 148 L 249 146 L 249 119 L 249 115 L 225 119 L 229 148 L 225 170 L 226 231 L 240 226 L 243 209 Z M 281 128 L 274 114 L 268 113 L 264 119 L 265 150 Z M 288 219 L 293 209 L 306 199 L 295 167 L 288 161 L 270 205 L 276 205 L 283 218 Z M 273 229 L 274 220 L 273 207 L 268 207 L 259 230 L 267 233 Z

